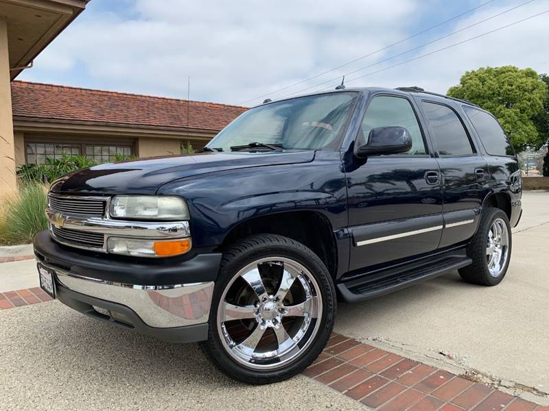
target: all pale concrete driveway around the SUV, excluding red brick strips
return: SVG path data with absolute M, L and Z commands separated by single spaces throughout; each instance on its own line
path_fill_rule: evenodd
M 336 332 L 548 403 L 549 192 L 527 192 L 523 201 L 502 284 L 472 286 L 451 273 L 374 301 L 340 304 Z M 36 286 L 32 261 L 0 270 L 8 264 L 27 273 L 25 287 Z M 109 327 L 57 301 L 1 310 L 0 330 L 2 410 L 364 410 L 303 375 L 272 386 L 238 384 L 196 345 Z

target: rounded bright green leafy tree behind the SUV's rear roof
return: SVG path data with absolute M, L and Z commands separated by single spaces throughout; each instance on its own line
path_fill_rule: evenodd
M 533 69 L 481 67 L 467 71 L 447 94 L 467 99 L 494 114 L 517 151 L 539 145 L 535 118 L 544 108 L 548 85 Z

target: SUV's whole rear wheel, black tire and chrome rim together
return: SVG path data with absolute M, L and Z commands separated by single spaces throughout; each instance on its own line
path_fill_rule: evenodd
M 473 264 L 459 269 L 459 275 L 471 284 L 500 284 L 509 268 L 512 242 L 507 214 L 499 208 L 484 208 L 478 230 L 467 247 Z

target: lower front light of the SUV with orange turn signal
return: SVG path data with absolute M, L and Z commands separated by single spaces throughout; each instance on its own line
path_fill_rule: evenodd
M 109 237 L 107 251 L 137 257 L 171 257 L 191 249 L 190 238 L 177 240 L 141 240 L 139 238 Z

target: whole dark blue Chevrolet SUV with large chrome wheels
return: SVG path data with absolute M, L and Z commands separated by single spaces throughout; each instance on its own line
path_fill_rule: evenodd
M 311 364 L 338 300 L 455 270 L 501 282 L 521 193 L 513 147 L 476 105 L 340 89 L 252 108 L 195 155 L 65 175 L 34 249 L 67 306 L 200 341 L 224 373 L 264 384 Z

